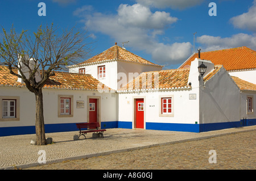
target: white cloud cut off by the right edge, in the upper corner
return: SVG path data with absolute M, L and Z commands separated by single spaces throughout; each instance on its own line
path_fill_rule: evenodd
M 248 12 L 234 16 L 230 19 L 230 22 L 232 22 L 236 28 L 256 32 L 256 0 L 254 0 L 253 6 L 250 7 Z

